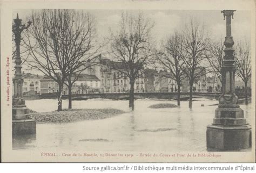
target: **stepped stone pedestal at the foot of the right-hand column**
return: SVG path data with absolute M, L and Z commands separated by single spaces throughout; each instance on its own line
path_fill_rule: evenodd
M 239 105 L 219 105 L 213 124 L 207 126 L 206 141 L 208 151 L 238 151 L 252 147 L 252 128 Z

